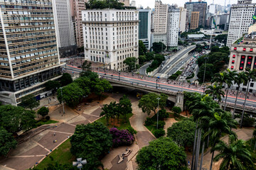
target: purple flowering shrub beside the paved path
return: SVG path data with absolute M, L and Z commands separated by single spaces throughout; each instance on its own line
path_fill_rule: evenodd
M 118 130 L 117 128 L 111 128 L 110 134 L 112 135 L 113 139 L 113 147 L 132 145 L 132 142 L 134 142 L 134 136 L 129 133 L 128 130 Z

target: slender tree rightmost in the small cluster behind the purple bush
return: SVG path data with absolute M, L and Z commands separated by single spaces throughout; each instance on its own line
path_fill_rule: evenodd
M 132 103 L 130 101 L 129 98 L 127 98 L 127 96 L 122 96 L 122 98 L 120 98 L 119 100 L 119 111 L 120 113 L 122 113 L 122 115 L 124 115 L 124 120 L 125 122 L 127 122 L 127 117 L 126 115 L 129 113 L 132 113 Z

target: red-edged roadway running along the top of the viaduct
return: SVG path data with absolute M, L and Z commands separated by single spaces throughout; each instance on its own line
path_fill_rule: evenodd
M 75 68 L 75 67 L 70 67 L 67 66 L 67 69 L 72 71 L 72 72 L 81 72 L 81 69 Z M 113 79 L 118 81 L 118 74 L 105 74 L 104 72 L 97 72 L 100 77 L 107 78 L 107 79 Z M 120 81 L 128 82 L 131 84 L 138 84 L 138 86 L 147 86 L 151 88 L 156 88 L 156 81 L 149 81 L 145 79 L 138 79 L 135 77 L 127 77 L 127 76 L 120 76 Z M 158 83 L 158 88 L 163 89 L 163 90 L 168 90 L 168 91 L 189 91 L 189 92 L 198 92 L 200 94 L 203 94 L 203 89 L 192 89 L 184 86 L 178 86 L 174 84 L 164 84 L 164 83 Z M 244 98 L 238 98 L 238 105 L 242 105 L 244 103 Z M 235 103 L 235 96 L 228 96 L 227 98 L 228 103 Z M 252 106 L 256 108 L 256 101 L 248 99 L 246 101 L 246 106 Z

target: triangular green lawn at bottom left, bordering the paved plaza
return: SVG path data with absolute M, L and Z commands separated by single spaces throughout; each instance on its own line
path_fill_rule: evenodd
M 59 164 L 72 164 L 75 160 L 75 156 L 70 153 L 70 139 L 63 142 L 59 147 L 57 147 L 53 152 L 51 152 L 48 157 L 43 159 L 43 161 L 36 166 L 38 169 L 44 169 L 48 164 L 55 164 L 58 162 Z M 53 158 L 53 160 L 50 159 Z

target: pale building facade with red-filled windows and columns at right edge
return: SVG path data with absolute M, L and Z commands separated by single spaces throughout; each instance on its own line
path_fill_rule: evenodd
M 246 68 L 256 69 L 256 32 L 245 35 L 242 43 L 233 43 L 230 47 L 228 69 L 242 72 Z M 243 84 L 239 90 L 245 91 L 246 88 L 247 84 Z M 233 89 L 238 89 L 238 85 L 235 84 Z M 255 81 L 250 81 L 249 91 L 252 93 L 256 92 Z

